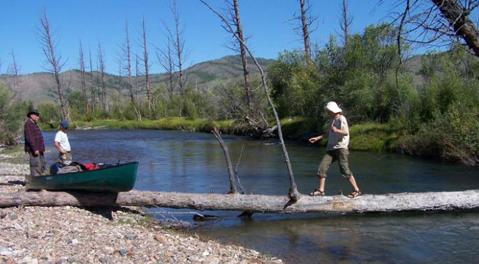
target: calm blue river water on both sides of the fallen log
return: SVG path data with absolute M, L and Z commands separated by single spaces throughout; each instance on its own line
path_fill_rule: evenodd
M 44 132 L 48 164 L 54 162 L 54 132 Z M 138 161 L 135 189 L 165 192 L 229 190 L 223 150 L 212 134 L 163 130 L 68 132 L 73 160 Z M 277 141 L 224 135 L 246 193 L 287 194 L 289 178 Z M 354 139 L 352 139 L 354 140 Z M 287 143 L 298 190 L 318 184 L 316 168 L 325 148 Z M 390 153 L 351 151 L 351 170 L 365 194 L 479 189 L 478 169 Z M 326 195 L 351 192 L 333 164 Z M 169 210 L 191 212 L 191 210 Z M 479 258 L 479 211 L 399 212 L 357 215 L 202 212 L 222 217 L 192 232 L 239 244 L 286 263 L 473 263 Z M 191 215 L 177 215 L 192 222 Z

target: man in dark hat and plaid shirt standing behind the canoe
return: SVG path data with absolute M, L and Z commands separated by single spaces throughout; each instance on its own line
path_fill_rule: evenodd
M 40 113 L 37 110 L 30 110 L 27 114 L 28 120 L 24 126 L 25 152 L 30 156 L 30 175 L 42 176 L 45 173 L 45 143 L 43 134 L 37 122 Z

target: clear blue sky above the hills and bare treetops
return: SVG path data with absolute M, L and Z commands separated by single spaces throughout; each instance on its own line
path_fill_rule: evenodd
M 5 73 L 11 65 L 12 53 L 20 74 L 46 71 L 45 55 L 38 41 L 43 10 L 54 32 L 57 53 L 61 54 L 64 63 L 61 71 L 80 68 L 78 48 L 81 40 L 87 65 L 89 49 L 95 58 L 100 42 L 105 71 L 118 75 L 126 21 L 132 52 L 140 53 L 140 23 L 144 17 L 152 62 L 150 72 L 164 72 L 156 59 L 155 48 L 165 43 L 162 21 L 172 24 L 169 3 L 170 0 L 2 0 L 0 73 Z M 209 0 L 208 3 L 219 11 L 226 7 L 221 0 Z M 294 31 L 296 25 L 290 22 L 294 14 L 300 13 L 298 0 L 238 0 L 238 3 L 243 31 L 249 36 L 248 45 L 254 56 L 277 59 L 285 49 L 303 47 L 300 36 Z M 362 33 L 370 24 L 388 21 L 388 11 L 392 7 L 377 3 L 378 0 L 348 0 L 348 15 L 353 17 L 351 33 Z M 311 13 L 317 17 L 317 29 L 311 34 L 311 43 L 322 47 L 330 35 L 338 36 L 340 32 L 341 0 L 311 0 L 311 4 Z M 177 9 L 187 54 L 185 68 L 234 55 L 226 47 L 230 35 L 221 27 L 221 20 L 200 1 L 177 0 Z

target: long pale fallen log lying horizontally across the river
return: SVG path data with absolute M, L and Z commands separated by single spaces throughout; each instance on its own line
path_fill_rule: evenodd
M 0 192 L 0 208 L 12 206 L 159 206 L 196 210 L 237 210 L 295 214 L 305 212 L 399 212 L 479 208 L 479 190 L 364 194 L 346 196 L 288 196 L 242 194 L 191 194 L 180 192 Z

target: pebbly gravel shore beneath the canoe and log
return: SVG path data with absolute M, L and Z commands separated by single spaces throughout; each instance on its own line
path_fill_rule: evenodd
M 0 162 L 0 192 L 24 192 L 26 164 Z M 161 226 L 139 208 L 0 208 L 0 263 L 282 263 Z

